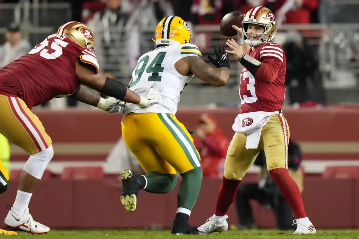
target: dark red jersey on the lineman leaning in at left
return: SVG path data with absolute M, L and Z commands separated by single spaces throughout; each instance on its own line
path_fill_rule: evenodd
M 71 95 L 80 85 L 78 58 L 98 71 L 93 52 L 64 36 L 50 35 L 28 54 L 0 69 L 0 94 L 19 97 L 29 109 L 54 97 Z

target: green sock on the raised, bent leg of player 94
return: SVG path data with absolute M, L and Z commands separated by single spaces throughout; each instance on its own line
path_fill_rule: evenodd
M 151 193 L 168 193 L 173 190 L 177 183 L 176 174 L 148 173 L 145 175 L 147 186 L 144 189 Z

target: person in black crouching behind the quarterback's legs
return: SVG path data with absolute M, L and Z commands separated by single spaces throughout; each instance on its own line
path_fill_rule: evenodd
M 303 171 L 300 167 L 301 161 L 302 153 L 299 145 L 293 140 L 289 140 L 289 175 L 297 183 L 300 192 L 303 192 Z M 258 154 L 254 164 L 261 167 L 259 182 L 241 183 L 238 187 L 236 196 L 236 206 L 240 221 L 238 229 L 257 228 L 255 219 L 253 218 L 250 199 L 258 201 L 261 205 L 265 206 L 266 209 L 273 210 L 278 229 L 296 229 L 297 226 L 292 225 L 292 221 L 295 219 L 292 214 L 292 210 L 290 209 L 288 203 L 284 200 L 278 186 L 268 173 L 264 150 Z

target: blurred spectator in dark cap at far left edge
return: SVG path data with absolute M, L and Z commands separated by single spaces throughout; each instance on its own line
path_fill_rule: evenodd
M 28 40 L 21 39 L 22 33 L 18 23 L 11 23 L 6 30 L 6 42 L 0 48 L 0 67 L 15 61 L 32 49 Z

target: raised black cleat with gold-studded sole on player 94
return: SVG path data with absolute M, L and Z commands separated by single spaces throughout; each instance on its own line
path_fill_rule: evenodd
M 121 203 L 126 211 L 134 212 L 137 206 L 137 195 L 140 191 L 139 175 L 127 169 L 122 172 Z

